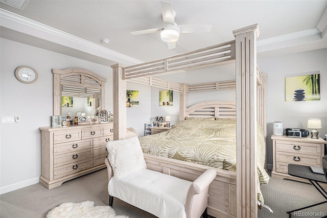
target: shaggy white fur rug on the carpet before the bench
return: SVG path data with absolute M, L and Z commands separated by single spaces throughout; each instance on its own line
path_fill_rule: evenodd
M 92 201 L 80 203 L 64 203 L 52 209 L 47 218 L 128 218 L 116 215 L 110 206 L 94 206 Z

